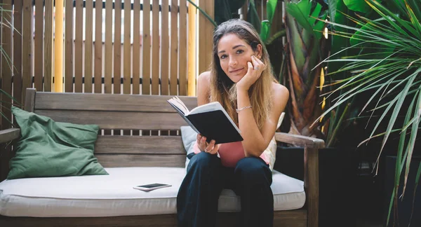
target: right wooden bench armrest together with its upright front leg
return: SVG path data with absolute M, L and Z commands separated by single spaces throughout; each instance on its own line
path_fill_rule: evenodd
M 319 149 L 325 147 L 323 139 L 276 132 L 275 139 L 304 147 L 304 188 L 307 204 L 307 226 L 319 224 Z

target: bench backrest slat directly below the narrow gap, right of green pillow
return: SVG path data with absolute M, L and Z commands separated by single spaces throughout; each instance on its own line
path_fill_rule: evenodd
M 178 136 L 98 136 L 96 154 L 186 154 Z

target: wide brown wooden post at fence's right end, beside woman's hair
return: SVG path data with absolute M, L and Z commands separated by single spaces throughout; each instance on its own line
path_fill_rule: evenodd
M 215 18 L 214 0 L 199 0 L 199 7 L 208 13 L 210 18 Z M 213 29 L 213 24 L 203 13 L 199 13 L 199 74 L 209 69 L 212 60 Z

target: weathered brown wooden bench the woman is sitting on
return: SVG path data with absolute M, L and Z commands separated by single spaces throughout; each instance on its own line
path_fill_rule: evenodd
M 98 124 L 105 130 L 180 130 L 186 123 L 166 102 L 170 96 L 51 93 L 27 89 L 25 110 L 55 121 Z M 189 108 L 196 97 L 180 97 Z M 168 131 L 167 131 L 168 132 Z M 140 133 L 142 135 L 142 133 Z M 0 144 L 18 139 L 18 128 L 0 131 Z M 305 147 L 305 207 L 274 212 L 274 226 L 318 226 L 321 139 L 276 132 L 276 140 Z M 117 149 L 118 148 L 118 149 Z M 184 167 L 180 136 L 100 135 L 95 156 L 104 167 Z M 234 226 L 234 214 L 219 213 L 218 226 Z M 106 217 L 0 216 L 0 226 L 176 226 L 175 214 Z

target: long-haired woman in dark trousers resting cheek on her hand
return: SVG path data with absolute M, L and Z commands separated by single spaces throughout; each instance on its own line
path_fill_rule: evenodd
M 272 226 L 272 171 L 263 151 L 289 93 L 276 82 L 267 50 L 250 23 L 229 20 L 218 26 L 211 69 L 197 83 L 198 105 L 220 102 L 243 141 L 215 144 L 197 136 L 197 151 L 178 191 L 179 226 L 215 226 L 222 188 L 241 197 L 239 226 Z

